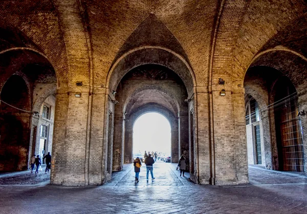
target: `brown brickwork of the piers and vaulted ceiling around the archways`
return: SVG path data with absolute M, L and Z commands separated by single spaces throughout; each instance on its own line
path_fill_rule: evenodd
M 245 81 L 245 74 L 253 67 L 256 73 L 261 66 L 274 68 L 294 84 L 299 110 L 305 110 L 306 8 L 301 0 L 5 1 L 0 6 L 0 88 L 30 64 L 54 70 L 51 183 L 87 185 L 110 179 L 107 165 L 114 163 L 115 170 L 121 169 L 123 152 L 118 148 L 123 148 L 122 139 L 128 142 L 131 137 L 128 131 L 120 131 L 124 111 L 133 113 L 156 101 L 180 116 L 178 152 L 189 157 L 194 182 L 247 183 L 243 84 L 249 83 L 246 89 L 253 96 L 258 94 L 255 99 L 266 106 L 274 100 L 269 86 L 276 79 L 270 76 L 278 78 L 279 74 L 271 69 L 265 81 L 259 76 Z M 124 92 L 138 95 L 125 104 L 128 96 L 120 99 L 118 84 L 130 70 L 145 64 L 173 70 L 183 84 L 156 80 L 150 82 L 153 87 L 142 88 L 149 82 L 122 82 Z M 220 78 L 225 85 L 218 84 Z M 31 81 L 26 83 L 33 94 L 33 109 L 55 91 L 55 81 L 42 81 L 42 90 L 33 88 Z M 220 96 L 222 89 L 226 96 Z M 118 92 L 115 107 L 112 90 Z M 156 98 L 148 96 L 152 94 Z M 187 98 L 188 106 L 183 102 Z M 271 159 L 272 168 L 278 169 L 275 124 L 269 118 L 274 118 L 271 110 L 261 119 L 265 162 L 271 168 Z M 37 118 L 32 120 L 38 123 Z M 305 130 L 305 116 L 301 123 Z M 125 130 L 131 125 L 125 123 Z M 266 131 L 269 126 L 270 133 Z M 30 131 L 23 134 L 29 145 Z M 116 151 L 114 161 L 114 155 L 109 157 L 110 146 Z

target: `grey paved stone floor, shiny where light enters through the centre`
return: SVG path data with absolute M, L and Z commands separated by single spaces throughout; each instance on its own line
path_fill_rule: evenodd
M 248 185 L 197 185 L 189 182 L 188 174 L 180 178 L 176 164 L 157 163 L 156 180 L 148 183 L 145 167 L 140 182 L 134 183 L 131 165 L 102 186 L 11 182 L 0 185 L 0 213 L 307 213 L 305 176 L 256 166 L 250 166 L 249 173 Z M 25 174 L 19 179 L 27 178 Z

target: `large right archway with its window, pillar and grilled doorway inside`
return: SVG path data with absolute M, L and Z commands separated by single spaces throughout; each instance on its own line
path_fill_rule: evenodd
M 295 59 L 287 64 L 282 61 L 275 63 L 274 59 Z M 261 145 L 261 162 L 255 159 L 249 164 L 261 164 L 267 169 L 281 171 L 305 171 L 305 143 L 304 137 L 304 115 L 302 109 L 305 105 L 303 82 L 296 75 L 304 76 L 305 72 L 299 74 L 299 67 L 304 62 L 299 56 L 287 51 L 268 51 L 259 54 L 259 57 L 247 70 L 244 80 L 246 98 L 250 96 L 258 104 L 258 114 L 249 112 L 246 115 L 258 115 L 259 118 L 259 142 Z M 250 100 L 253 101 L 253 100 Z M 246 109 L 251 102 L 246 102 Z M 303 112 L 304 113 L 304 112 Z M 248 121 L 248 120 L 246 120 Z M 256 131 L 248 134 L 249 139 L 257 139 Z M 248 144 L 249 147 L 249 144 Z M 254 147 L 257 152 L 257 148 Z M 264 156 L 263 156 L 264 155 Z M 259 158 L 259 157 L 258 157 Z

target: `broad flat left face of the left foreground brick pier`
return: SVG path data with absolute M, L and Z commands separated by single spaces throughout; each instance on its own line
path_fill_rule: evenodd
M 78 90 L 78 92 L 81 89 Z M 85 148 L 89 91 L 58 89 L 54 122 L 51 183 L 67 186 L 86 185 Z

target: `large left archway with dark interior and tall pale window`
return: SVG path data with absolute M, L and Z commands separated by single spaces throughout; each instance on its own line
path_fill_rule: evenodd
M 30 49 L 4 51 L 0 63 L 0 170 L 27 170 L 33 154 L 42 159 L 51 152 L 57 77 L 46 57 Z

